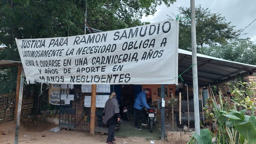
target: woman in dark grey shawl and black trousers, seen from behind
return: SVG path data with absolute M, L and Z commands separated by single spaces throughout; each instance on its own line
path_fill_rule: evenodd
M 109 99 L 106 101 L 105 108 L 103 109 L 103 123 L 108 124 L 108 138 L 107 143 L 113 144 L 115 141 L 114 132 L 115 126 L 120 120 L 119 106 L 116 100 L 116 93 L 113 92 Z

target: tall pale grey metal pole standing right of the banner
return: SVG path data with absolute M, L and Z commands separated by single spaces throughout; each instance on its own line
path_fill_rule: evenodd
M 190 0 L 191 8 L 191 42 L 192 42 L 192 72 L 193 72 L 193 96 L 194 96 L 194 120 L 195 133 L 200 135 L 198 79 L 197 79 L 197 56 L 196 56 L 196 30 L 195 30 L 195 1 Z

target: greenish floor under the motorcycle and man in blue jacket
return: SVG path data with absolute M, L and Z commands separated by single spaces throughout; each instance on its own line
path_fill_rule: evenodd
M 161 131 L 159 128 L 161 127 L 161 124 L 157 124 L 156 126 L 153 126 L 153 132 L 150 132 L 149 126 L 139 126 L 141 127 L 141 130 L 134 129 L 134 121 L 135 117 L 132 116 L 130 121 L 123 120 L 123 122 L 120 125 L 120 130 L 115 131 L 115 136 L 117 137 L 141 137 L 145 139 L 155 139 L 160 140 L 161 139 Z M 141 121 L 139 121 L 141 123 Z

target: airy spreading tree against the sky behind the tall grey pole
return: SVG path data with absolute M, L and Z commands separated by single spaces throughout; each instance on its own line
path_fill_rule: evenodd
M 179 28 L 179 48 L 191 49 L 191 19 L 190 8 L 179 7 L 180 28 Z M 200 47 L 221 44 L 228 39 L 237 37 L 235 26 L 230 26 L 225 17 L 221 14 L 210 13 L 209 8 L 202 8 L 201 5 L 195 7 L 196 16 L 196 44 Z M 200 51 L 198 47 L 198 51 Z

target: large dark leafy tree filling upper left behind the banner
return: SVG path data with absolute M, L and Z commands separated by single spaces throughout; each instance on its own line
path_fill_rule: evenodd
M 42 38 L 82 35 L 85 2 L 87 23 L 102 31 L 143 25 L 143 14 L 156 12 L 156 6 L 167 6 L 176 0 L 6 0 L 0 1 L 0 59 L 20 59 L 15 38 Z M 6 69 L 0 68 L 0 69 Z M 16 69 L 7 67 L 7 69 Z M 11 70 L 12 71 L 12 70 Z M 17 73 L 6 73 L 16 79 Z M 8 83 L 10 85 L 10 83 Z M 6 85 L 6 83 L 1 83 Z M 16 82 L 12 83 L 15 89 Z M 10 89 L 12 90 L 12 89 Z M 5 89 L 5 91 L 9 91 Z M 2 91 L 0 91 L 1 93 Z

